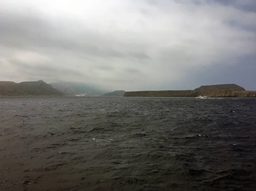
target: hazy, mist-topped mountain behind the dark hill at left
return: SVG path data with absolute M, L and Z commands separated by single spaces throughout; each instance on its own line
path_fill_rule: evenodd
M 50 85 L 63 92 L 65 95 L 86 95 L 86 96 L 100 96 L 103 94 L 100 88 L 93 85 L 88 85 L 86 83 L 76 83 L 76 82 L 55 82 L 50 83 Z

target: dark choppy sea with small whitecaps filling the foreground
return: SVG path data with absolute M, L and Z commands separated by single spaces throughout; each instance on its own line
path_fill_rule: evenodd
M 256 99 L 0 98 L 1 191 L 255 191 Z

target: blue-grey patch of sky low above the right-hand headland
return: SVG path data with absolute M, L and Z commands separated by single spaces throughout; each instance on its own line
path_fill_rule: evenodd
M 236 83 L 246 90 L 256 90 L 256 84 L 254 83 L 256 81 L 255 60 L 256 54 L 248 57 L 238 57 L 236 63 L 232 65 L 218 63 L 212 66 L 204 66 L 199 71 L 188 75 L 188 78 L 191 79 L 189 84 L 182 81 L 179 85 L 186 89 L 197 88 L 199 84 Z

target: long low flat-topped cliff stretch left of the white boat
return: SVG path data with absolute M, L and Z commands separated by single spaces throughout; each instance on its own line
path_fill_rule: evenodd
M 127 91 L 126 97 L 197 97 L 198 92 L 194 90 L 170 90 L 170 91 Z

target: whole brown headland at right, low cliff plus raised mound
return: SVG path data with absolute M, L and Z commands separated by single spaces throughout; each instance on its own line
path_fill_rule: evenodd
M 127 91 L 125 97 L 256 97 L 256 91 L 245 91 L 236 84 L 201 86 L 195 90 Z

